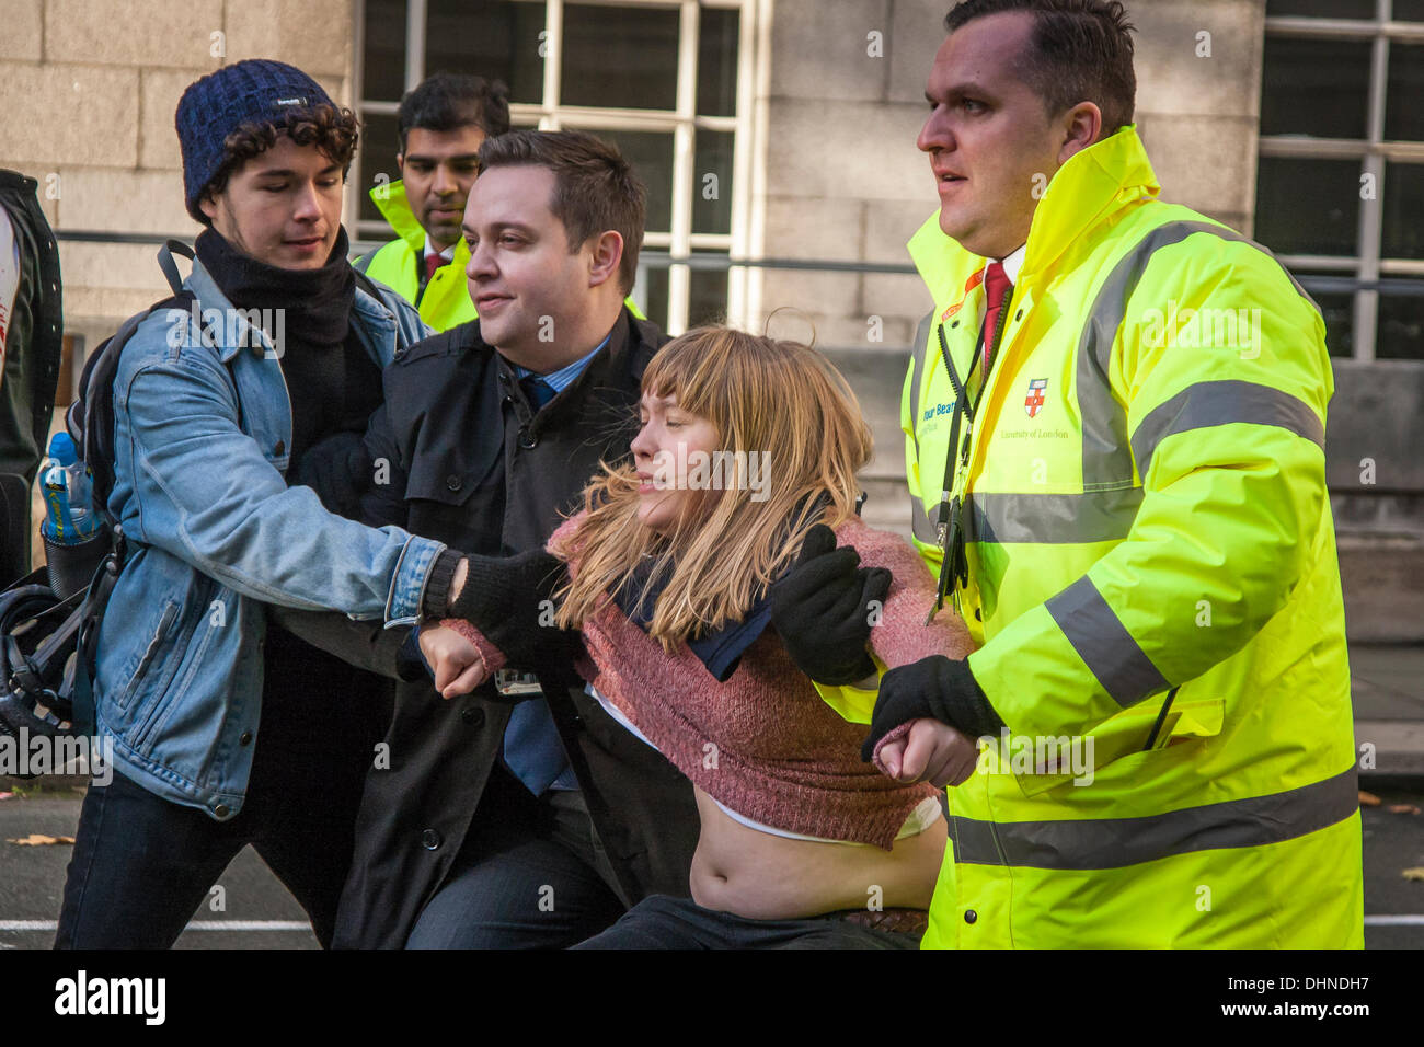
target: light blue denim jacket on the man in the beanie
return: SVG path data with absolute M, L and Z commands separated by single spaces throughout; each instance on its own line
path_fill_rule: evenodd
M 201 262 L 184 286 L 194 309 L 150 313 L 114 377 L 108 507 L 130 556 L 100 630 L 94 712 L 124 775 L 225 821 L 242 809 L 258 742 L 263 604 L 419 618 L 444 546 L 332 516 L 309 487 L 288 487 L 292 405 L 278 350 Z M 357 286 L 352 326 L 384 368 L 426 329 L 377 289 L 380 299 Z

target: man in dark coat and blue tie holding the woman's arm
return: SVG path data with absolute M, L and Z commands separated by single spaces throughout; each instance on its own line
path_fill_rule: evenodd
M 642 370 L 666 338 L 624 306 L 644 189 L 614 148 L 517 131 L 486 142 L 480 164 L 464 221 L 480 319 L 386 369 L 360 510 L 510 556 L 541 547 L 600 462 L 628 453 Z M 329 504 L 359 460 L 330 450 Z M 450 584 L 459 557 L 443 556 L 429 585 Z M 582 691 L 567 650 L 520 667 L 543 694 L 506 684 L 501 698 L 491 682 L 444 701 L 404 630 L 283 620 L 387 672 L 400 647 L 406 677 L 419 674 L 367 778 L 335 944 L 564 947 L 648 893 L 688 893 L 691 783 Z

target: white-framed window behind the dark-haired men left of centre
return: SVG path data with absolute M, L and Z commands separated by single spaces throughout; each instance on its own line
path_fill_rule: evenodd
M 669 333 L 740 315 L 756 0 L 363 0 L 357 234 L 390 235 L 365 191 L 394 177 L 403 93 L 440 70 L 510 85 L 515 127 L 612 141 L 648 185 L 632 296 Z M 669 264 L 693 258 L 698 265 Z

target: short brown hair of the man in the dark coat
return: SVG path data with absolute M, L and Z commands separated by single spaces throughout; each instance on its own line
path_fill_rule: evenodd
M 486 138 L 480 172 L 496 167 L 547 167 L 554 172 L 550 209 L 568 232 L 570 254 L 614 229 L 624 238 L 618 282 L 627 295 L 638 272 L 648 191 L 617 145 L 584 131 L 510 131 Z

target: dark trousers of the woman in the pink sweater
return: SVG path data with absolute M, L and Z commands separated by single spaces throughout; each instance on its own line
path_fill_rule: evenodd
M 691 897 L 654 895 L 575 949 L 918 949 L 920 934 L 850 923 L 849 913 L 752 920 L 703 909 Z M 857 910 L 856 913 L 863 915 Z

